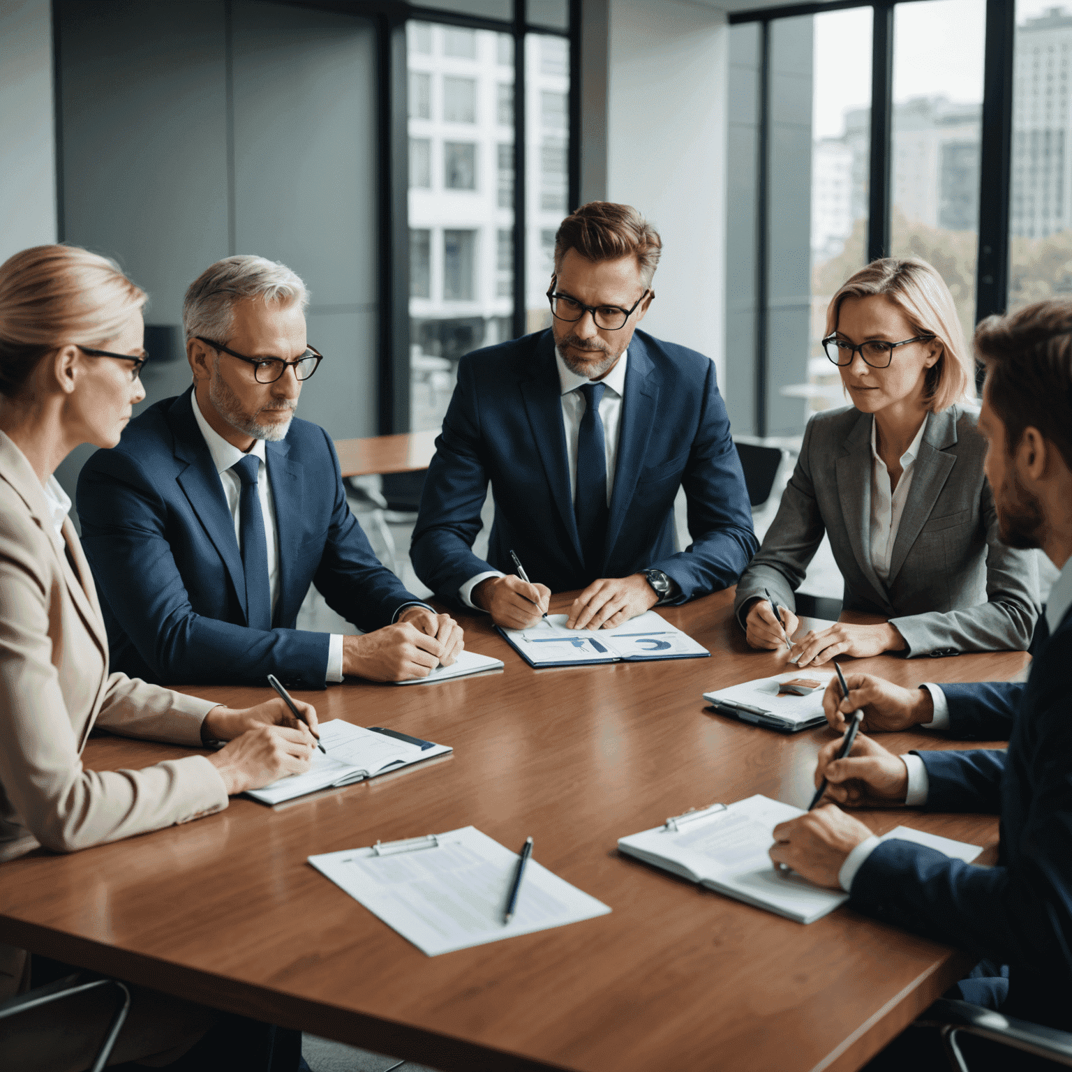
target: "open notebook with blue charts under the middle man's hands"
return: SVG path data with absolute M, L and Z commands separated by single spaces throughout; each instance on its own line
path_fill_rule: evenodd
M 549 614 L 528 629 L 498 631 L 532 667 L 698 659 L 711 653 L 650 610 L 615 629 L 567 629 L 567 614 Z

